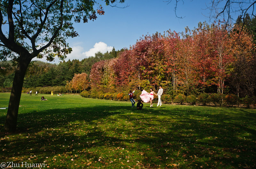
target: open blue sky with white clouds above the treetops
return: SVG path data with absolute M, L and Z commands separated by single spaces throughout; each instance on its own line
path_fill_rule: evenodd
M 175 16 L 175 1 L 171 3 L 163 0 L 126 0 L 124 4 L 118 4 L 127 8 L 106 7 L 102 4 L 105 15 L 97 16 L 94 21 L 88 23 L 74 23 L 79 37 L 68 39 L 69 46 L 73 52 L 65 60 L 82 60 L 94 53 L 111 51 L 114 46 L 116 50 L 124 47 L 129 48 L 140 39 L 142 35 L 160 32 L 171 29 L 182 32 L 185 27 L 193 29 L 198 22 L 209 21 L 209 11 L 206 3 L 210 1 L 193 0 L 182 1 L 177 6 L 177 18 Z M 33 59 L 46 61 L 46 59 Z M 59 61 L 56 58 L 53 62 Z

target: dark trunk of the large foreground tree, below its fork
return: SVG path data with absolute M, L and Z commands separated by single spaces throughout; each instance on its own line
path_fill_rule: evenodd
M 20 96 L 21 96 L 23 81 L 24 81 L 26 70 L 28 68 L 28 64 L 31 61 L 31 59 L 22 59 L 22 58 L 23 57 L 20 57 L 20 60 L 18 62 L 16 71 L 15 71 L 8 111 L 6 115 L 4 129 L 8 132 L 15 131 L 17 128 L 18 110 L 20 105 Z

